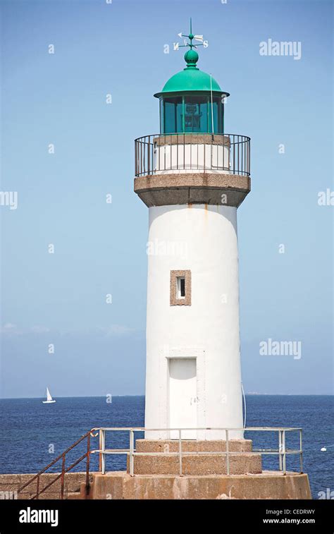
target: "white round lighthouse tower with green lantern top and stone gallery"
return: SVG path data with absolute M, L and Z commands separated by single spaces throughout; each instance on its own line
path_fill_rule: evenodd
M 237 208 L 249 138 L 225 133 L 229 93 L 185 66 L 159 99 L 160 132 L 135 140 L 135 193 L 149 211 L 146 439 L 243 439 Z M 168 430 L 166 430 L 168 429 Z M 214 429 L 214 430 L 211 430 Z

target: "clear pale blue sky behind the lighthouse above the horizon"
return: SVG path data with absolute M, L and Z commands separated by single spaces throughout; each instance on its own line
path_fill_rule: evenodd
M 153 94 L 184 66 L 173 42 L 189 16 L 209 41 L 199 68 L 231 95 L 226 131 L 252 138 L 238 210 L 245 391 L 332 393 L 333 206 L 318 205 L 333 190 L 331 12 L 320 0 L 1 1 L 1 190 L 18 191 L 16 210 L 0 207 L 1 396 L 144 394 L 148 210 L 133 141 L 159 131 Z M 301 59 L 260 56 L 268 39 L 301 42 Z M 268 338 L 302 341 L 302 358 L 260 356 Z

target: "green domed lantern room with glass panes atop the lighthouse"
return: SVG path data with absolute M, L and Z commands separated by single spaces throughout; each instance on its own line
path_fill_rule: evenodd
M 197 68 L 197 51 L 185 53 L 187 66 L 173 75 L 154 97 L 160 100 L 160 133 L 224 133 L 224 100 L 210 74 Z

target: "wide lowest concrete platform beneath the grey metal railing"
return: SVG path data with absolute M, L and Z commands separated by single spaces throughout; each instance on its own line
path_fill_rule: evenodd
M 131 477 L 118 471 L 93 475 L 92 499 L 311 499 L 311 490 L 299 473 Z

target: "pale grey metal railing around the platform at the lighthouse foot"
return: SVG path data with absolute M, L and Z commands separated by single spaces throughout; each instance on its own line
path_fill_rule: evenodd
M 189 430 L 216 430 L 225 432 L 225 451 L 183 451 L 182 447 L 182 432 Z M 130 447 L 129 449 L 106 449 L 106 432 L 129 432 L 130 435 Z M 137 452 L 135 450 L 135 432 L 178 432 L 178 452 Z M 217 427 L 195 427 L 195 428 L 146 428 L 146 427 L 101 427 L 99 428 L 99 449 L 91 451 L 91 454 L 99 454 L 99 469 L 104 475 L 106 473 L 106 454 L 128 454 L 129 455 L 129 471 L 130 476 L 135 476 L 135 456 L 178 456 L 179 457 L 179 471 L 180 476 L 183 476 L 183 456 L 187 455 L 201 455 L 206 456 L 223 454 L 226 456 L 226 473 L 230 475 L 230 455 L 233 454 L 245 454 L 244 451 L 230 451 L 230 434 L 231 431 L 240 432 L 278 432 L 278 449 L 254 449 L 253 451 L 247 451 L 247 454 L 275 454 L 279 459 L 279 471 L 282 471 L 283 475 L 286 475 L 286 456 L 287 454 L 299 454 L 299 473 L 303 472 L 303 449 L 302 449 L 302 428 L 299 427 L 246 427 L 246 428 L 217 428 Z M 285 432 L 299 432 L 299 449 L 287 449 L 285 442 Z

